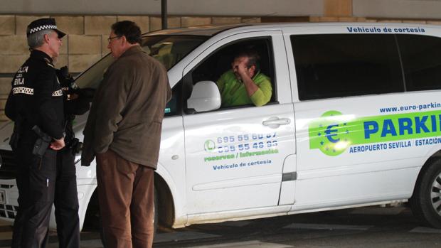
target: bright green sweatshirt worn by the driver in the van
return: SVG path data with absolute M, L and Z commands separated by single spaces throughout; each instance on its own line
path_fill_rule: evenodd
M 222 107 L 240 106 L 245 104 L 263 106 L 270 102 L 272 95 L 270 77 L 257 72 L 253 77 L 253 82 L 255 82 L 259 89 L 254 92 L 251 97 L 248 97 L 245 85 L 235 77 L 233 70 L 228 70 L 223 73 L 217 82 L 219 91 L 221 92 Z

